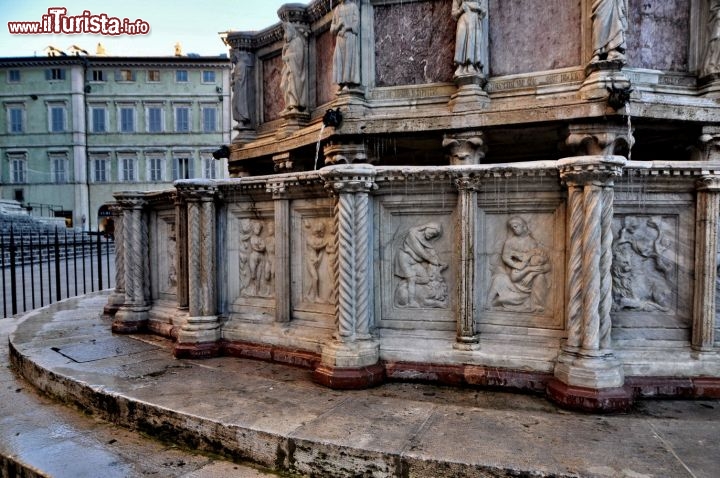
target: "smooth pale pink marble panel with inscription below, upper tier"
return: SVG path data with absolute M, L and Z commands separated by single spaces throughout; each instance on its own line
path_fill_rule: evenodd
M 582 63 L 580 0 L 489 0 L 490 75 Z

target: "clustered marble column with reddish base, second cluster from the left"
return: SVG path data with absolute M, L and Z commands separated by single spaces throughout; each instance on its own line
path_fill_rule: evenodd
M 187 204 L 188 312 L 178 333 L 176 357 L 212 357 L 220 352 L 215 260 L 215 197 L 211 184 L 177 186 Z

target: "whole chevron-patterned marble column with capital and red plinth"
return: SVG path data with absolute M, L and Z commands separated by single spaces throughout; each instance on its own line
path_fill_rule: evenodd
M 323 347 L 322 363 L 314 376 L 334 388 L 363 388 L 384 378 L 379 342 L 371 334 L 374 306 L 369 193 L 375 188 L 375 168 L 326 168 L 323 179 L 336 199 L 336 331 L 333 342 Z

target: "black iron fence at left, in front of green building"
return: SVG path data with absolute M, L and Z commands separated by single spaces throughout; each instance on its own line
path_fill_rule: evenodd
M 0 234 L 3 317 L 115 286 L 115 243 L 93 233 Z

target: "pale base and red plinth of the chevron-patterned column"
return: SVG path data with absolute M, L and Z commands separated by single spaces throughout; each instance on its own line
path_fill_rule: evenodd
M 333 342 L 323 348 L 321 363 L 312 376 L 328 388 L 370 388 L 385 381 L 385 367 L 379 362 L 380 345 L 374 340 Z

